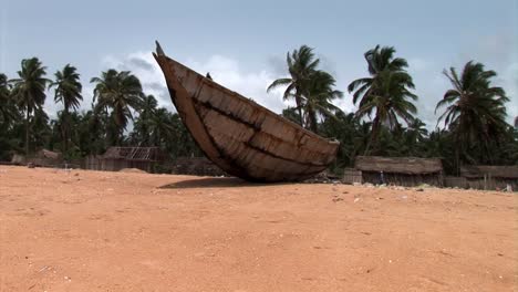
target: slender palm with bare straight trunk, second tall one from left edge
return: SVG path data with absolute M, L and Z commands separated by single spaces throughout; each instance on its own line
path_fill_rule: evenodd
M 55 87 L 54 101 L 63 104 L 63 114 L 61 117 L 64 123 L 61 123 L 64 153 L 69 150 L 70 140 L 70 109 L 74 112 L 80 105 L 80 101 L 83 100 L 81 95 L 82 85 L 80 82 L 80 74 L 76 72 L 77 69 L 66 64 L 62 71 L 55 72 L 55 82 L 52 82 L 49 86 Z

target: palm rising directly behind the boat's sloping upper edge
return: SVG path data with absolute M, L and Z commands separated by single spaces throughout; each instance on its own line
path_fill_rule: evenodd
M 287 53 L 286 61 L 288 63 L 289 77 L 278 79 L 268 86 L 267 92 L 279 86 L 287 86 L 284 91 L 284 101 L 294 97 L 297 111 L 299 112 L 300 125 L 303 125 L 302 117 L 302 87 L 309 81 L 313 71 L 317 70 L 320 60 L 314 59 L 313 49 L 308 45 L 300 46 L 299 50 L 293 50 Z

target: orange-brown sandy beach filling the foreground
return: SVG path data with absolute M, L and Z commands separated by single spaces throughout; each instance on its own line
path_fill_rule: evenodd
M 0 291 L 517 291 L 517 196 L 0 166 Z

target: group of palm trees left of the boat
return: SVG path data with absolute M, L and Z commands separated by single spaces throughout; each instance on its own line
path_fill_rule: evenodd
M 131 72 L 111 69 L 91 83 L 95 84 L 92 108 L 79 113 L 82 84 L 70 64 L 55 72 L 53 80 L 46 79 L 46 67 L 37 58 L 21 62 L 17 79 L 0 74 L 0 160 L 14 153 L 31 155 L 42 147 L 80 158 L 114 145 L 158 146 L 174 156 L 200 155 L 178 115 L 158 107 Z M 63 108 L 53 121 L 43 109 L 48 91 L 53 91 L 54 102 Z M 130 121 L 134 127 L 125 135 Z

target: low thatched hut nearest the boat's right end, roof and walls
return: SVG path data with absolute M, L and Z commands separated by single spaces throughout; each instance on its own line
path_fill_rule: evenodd
M 361 171 L 361 182 L 443 186 L 443 164 L 438 158 L 359 156 L 355 169 Z M 351 176 L 351 171 L 348 174 Z M 355 180 L 353 182 L 359 182 L 358 178 Z

